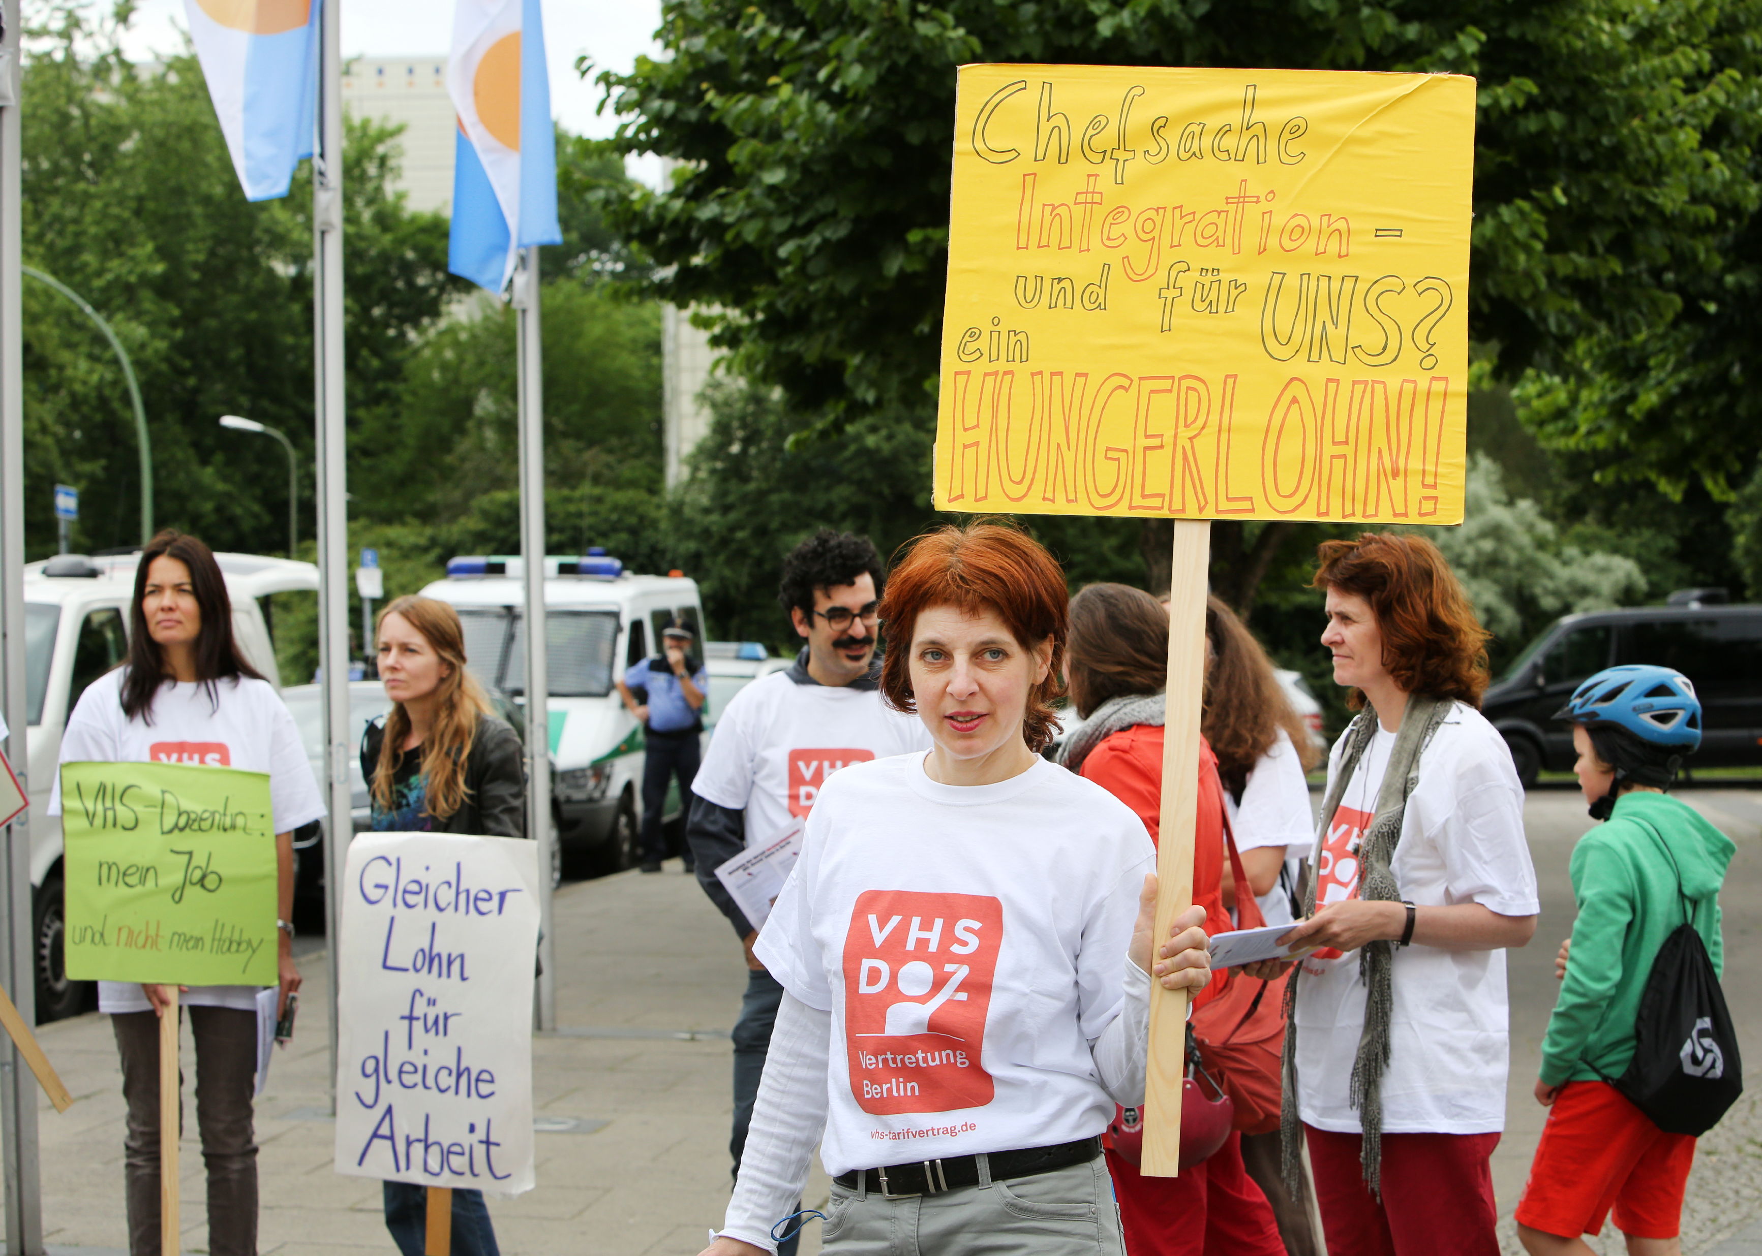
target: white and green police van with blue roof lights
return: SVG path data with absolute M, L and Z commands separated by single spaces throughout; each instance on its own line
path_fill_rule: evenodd
M 465 625 L 465 657 L 478 678 L 525 703 L 525 585 L 515 555 L 462 555 L 425 597 L 451 602 Z M 659 652 L 661 629 L 678 618 L 703 652 L 698 583 L 678 573 L 636 576 L 594 548 L 544 558 L 550 671 L 552 809 L 557 842 L 571 861 L 603 868 L 638 860 L 643 796 L 643 729 L 613 682 Z M 708 720 L 710 715 L 705 715 Z M 677 786 L 664 819 L 684 810 Z

